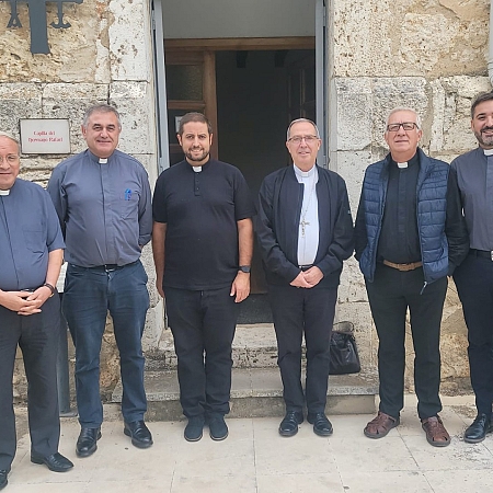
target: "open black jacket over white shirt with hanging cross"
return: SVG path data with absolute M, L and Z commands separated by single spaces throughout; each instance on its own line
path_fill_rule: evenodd
M 343 261 L 354 249 L 353 219 L 344 180 L 333 171 L 317 167 L 319 248 L 314 264 L 323 273 L 316 287 L 339 286 Z M 298 232 L 303 185 L 291 167 L 266 176 L 260 190 L 256 234 L 267 283 L 289 285 L 300 273 Z

